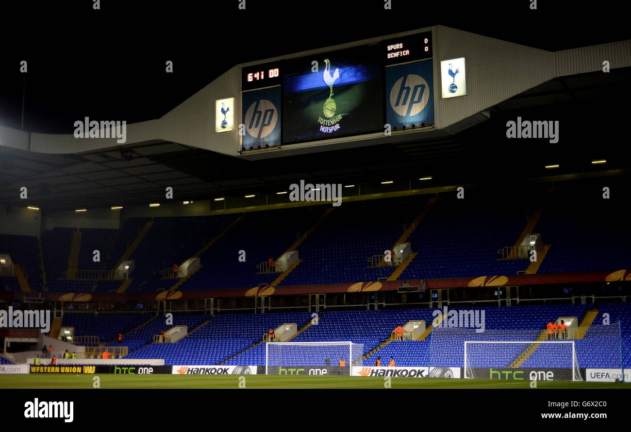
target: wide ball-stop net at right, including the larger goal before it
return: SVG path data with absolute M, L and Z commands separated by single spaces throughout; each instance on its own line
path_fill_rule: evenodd
M 501 380 L 584 379 L 584 368 L 622 368 L 619 324 L 592 325 L 550 339 L 547 330 L 436 327 L 432 368 L 463 368 L 465 378 Z

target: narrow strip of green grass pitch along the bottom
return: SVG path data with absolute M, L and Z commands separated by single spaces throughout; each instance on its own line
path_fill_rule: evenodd
M 0 375 L 0 388 L 239 388 L 239 375 Z M 386 388 L 377 377 L 243 375 L 245 388 Z M 530 388 L 530 381 L 391 378 L 391 388 Z M 631 388 L 622 383 L 538 381 L 537 388 Z

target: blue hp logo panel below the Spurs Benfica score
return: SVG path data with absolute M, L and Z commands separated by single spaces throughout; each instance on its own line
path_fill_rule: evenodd
M 431 60 L 386 67 L 386 107 L 392 128 L 433 124 Z

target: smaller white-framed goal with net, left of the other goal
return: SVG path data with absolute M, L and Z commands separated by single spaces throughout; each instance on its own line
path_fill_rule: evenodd
M 362 356 L 353 342 L 267 342 L 265 366 L 271 375 L 351 375 Z

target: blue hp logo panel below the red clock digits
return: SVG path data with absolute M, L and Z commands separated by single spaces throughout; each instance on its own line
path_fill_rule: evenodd
M 280 86 L 245 91 L 242 97 L 242 149 L 280 145 Z

